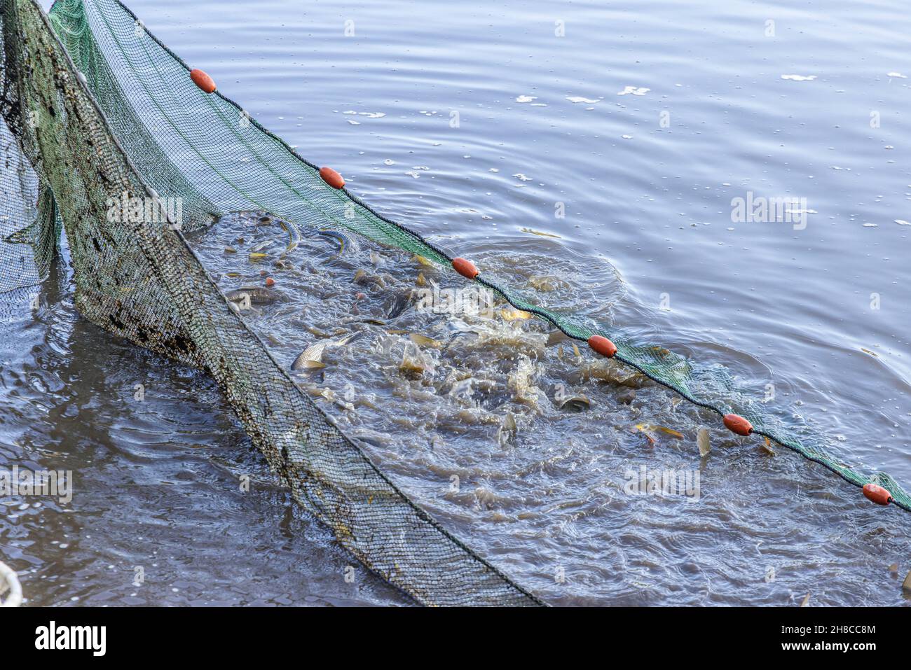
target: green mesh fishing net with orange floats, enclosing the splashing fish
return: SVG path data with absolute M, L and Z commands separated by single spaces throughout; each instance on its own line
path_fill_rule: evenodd
M 0 6 L 0 140 L 12 166 L 3 186 L 20 194 L 0 204 L 0 289 L 44 276 L 62 219 L 77 308 L 107 330 L 208 371 L 294 497 L 365 565 L 425 604 L 537 604 L 411 503 L 299 391 L 230 310 L 180 229 L 265 210 L 288 222 L 290 248 L 300 229 L 329 227 L 444 267 L 452 257 L 330 187 L 241 107 L 201 91 L 179 57 L 117 0 L 57 0 L 49 21 L 34 0 Z M 151 198 L 161 216 L 112 217 L 112 198 Z M 169 212 L 170 198 L 179 198 L 179 212 Z M 742 415 L 754 432 L 847 482 L 885 487 L 911 511 L 891 477 L 838 461 L 818 433 L 754 400 L 721 366 L 542 309 L 534 295 L 494 279 L 475 280 L 570 338 L 609 337 L 615 358 L 653 381 L 720 415 Z

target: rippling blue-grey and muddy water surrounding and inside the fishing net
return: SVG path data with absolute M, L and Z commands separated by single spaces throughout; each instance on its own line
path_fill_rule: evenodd
M 773 384 L 839 458 L 911 485 L 904 3 L 128 4 L 375 208 L 514 280 L 558 276 L 560 304 Z M 735 198 L 797 199 L 764 222 Z M 242 273 L 221 253 L 239 230 L 270 239 L 233 219 L 192 243 L 213 271 Z M 319 291 L 289 274 L 286 311 L 249 317 L 279 360 L 312 343 L 306 327 L 338 324 L 327 305 L 364 290 L 353 270 L 384 273 L 385 292 L 366 291 L 380 316 L 419 270 L 366 244 L 332 254 L 308 239 L 295 261 L 319 269 Z M 71 502 L 0 509 L 0 556 L 29 604 L 408 604 L 363 570 L 345 580 L 353 559 L 275 483 L 212 382 L 81 320 L 70 291 L 58 269 L 42 309 L 3 324 L 3 460 L 75 479 Z M 449 341 L 455 327 L 408 312 L 396 328 Z M 548 602 L 908 604 L 906 513 L 732 440 L 669 392 L 580 376 L 587 362 L 558 358 L 546 329 L 467 328 L 474 339 L 425 361 L 438 384 L 403 373 L 397 341 L 333 350 L 302 384 Z M 468 375 L 474 391 L 458 386 Z M 556 408 L 560 384 L 590 409 Z M 338 401 L 351 387 L 354 411 Z M 651 445 L 642 423 L 684 437 Z M 698 500 L 630 495 L 641 467 L 698 472 Z

